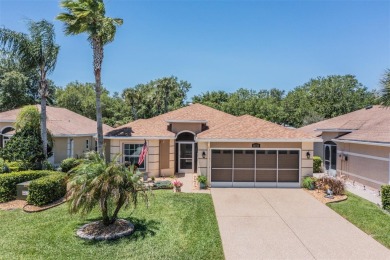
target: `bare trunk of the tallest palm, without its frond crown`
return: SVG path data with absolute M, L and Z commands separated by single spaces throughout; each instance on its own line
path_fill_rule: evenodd
M 101 87 L 101 67 L 103 62 L 103 45 L 99 39 L 93 39 L 93 66 L 95 72 L 95 92 L 96 92 L 96 121 L 97 121 L 97 150 L 100 156 L 103 157 L 103 120 L 102 107 L 100 96 L 102 92 Z

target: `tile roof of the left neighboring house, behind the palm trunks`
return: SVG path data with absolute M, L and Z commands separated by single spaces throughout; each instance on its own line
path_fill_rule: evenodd
M 40 106 L 37 105 L 40 111 Z M 0 113 L 0 122 L 15 122 L 21 109 L 14 109 Z M 54 136 L 60 135 L 94 135 L 96 134 L 96 121 L 79 115 L 66 108 L 46 107 L 47 129 Z M 103 131 L 109 131 L 112 127 L 103 125 Z

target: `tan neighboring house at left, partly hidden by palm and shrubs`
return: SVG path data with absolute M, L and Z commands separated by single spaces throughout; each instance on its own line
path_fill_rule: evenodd
M 40 106 L 37 105 L 40 111 Z M 14 134 L 14 123 L 21 109 L 0 113 L 0 148 Z M 47 129 L 53 136 L 53 156 L 49 161 L 59 165 L 62 160 L 81 157 L 85 152 L 95 150 L 96 121 L 65 108 L 47 107 Z M 104 131 L 112 128 L 103 125 Z

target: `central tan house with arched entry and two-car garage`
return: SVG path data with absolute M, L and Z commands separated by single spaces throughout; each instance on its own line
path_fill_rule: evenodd
M 104 135 L 110 157 L 138 162 L 144 140 L 149 153 L 140 169 L 151 176 L 197 173 L 212 187 L 299 187 L 313 173 L 313 142 L 299 130 L 252 116 L 233 116 L 193 104 L 140 119 Z

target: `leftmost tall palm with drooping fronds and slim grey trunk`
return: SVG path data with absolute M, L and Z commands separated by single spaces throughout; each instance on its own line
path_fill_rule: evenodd
M 56 66 L 60 47 L 55 43 L 54 25 L 48 21 L 30 21 L 28 31 L 29 35 L 0 28 L 0 43 L 20 60 L 23 68 L 39 74 L 42 150 L 47 159 L 46 102 L 49 87 L 46 76 Z

